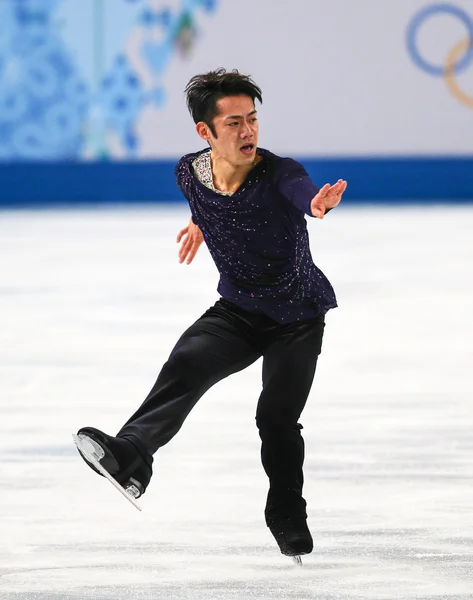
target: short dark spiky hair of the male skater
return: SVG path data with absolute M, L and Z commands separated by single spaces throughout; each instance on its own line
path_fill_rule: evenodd
M 217 102 L 226 96 L 249 96 L 263 103 L 261 89 L 248 75 L 237 69 L 226 71 L 220 68 L 201 75 L 194 75 L 184 90 L 194 123 L 203 121 L 216 136 L 213 119 L 218 115 Z

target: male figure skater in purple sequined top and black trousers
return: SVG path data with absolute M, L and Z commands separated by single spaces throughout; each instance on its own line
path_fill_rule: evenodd
M 262 94 L 250 77 L 225 69 L 196 75 L 186 95 L 208 147 L 176 167 L 192 214 L 178 235 L 179 257 L 191 262 L 205 241 L 220 273 L 220 299 L 183 333 L 149 395 L 116 436 L 92 427 L 78 435 L 138 497 L 150 481 L 153 455 L 179 431 L 199 398 L 262 357 L 256 425 L 269 479 L 266 524 L 283 554 L 308 554 L 313 541 L 302 495 L 299 418 L 325 314 L 337 303 L 312 261 L 305 215 L 323 218 L 347 184 L 338 180 L 319 189 L 300 163 L 258 147 L 255 100 L 261 103 Z

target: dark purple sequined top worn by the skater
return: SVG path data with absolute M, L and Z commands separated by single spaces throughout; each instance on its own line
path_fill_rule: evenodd
M 220 273 L 222 298 L 279 323 L 336 307 L 310 253 L 305 215 L 319 188 L 304 167 L 258 148 L 260 162 L 234 194 L 222 195 L 196 176 L 193 163 L 204 152 L 183 156 L 175 173 Z

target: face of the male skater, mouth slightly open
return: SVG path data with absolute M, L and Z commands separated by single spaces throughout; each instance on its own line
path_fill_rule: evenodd
M 253 100 L 249 96 L 226 96 L 217 102 L 218 114 L 212 121 L 213 129 L 197 123 L 197 133 L 207 140 L 216 158 L 232 166 L 251 165 L 258 145 L 258 119 Z

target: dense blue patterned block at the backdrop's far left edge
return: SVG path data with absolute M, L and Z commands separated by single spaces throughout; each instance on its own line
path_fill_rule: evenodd
M 58 37 L 57 0 L 0 5 L 0 158 L 77 156 L 88 91 Z

